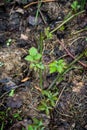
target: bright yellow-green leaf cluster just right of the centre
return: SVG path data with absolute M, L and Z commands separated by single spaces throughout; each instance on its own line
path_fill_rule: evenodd
M 66 68 L 66 63 L 63 59 L 53 61 L 49 64 L 50 73 L 59 72 L 62 73 Z

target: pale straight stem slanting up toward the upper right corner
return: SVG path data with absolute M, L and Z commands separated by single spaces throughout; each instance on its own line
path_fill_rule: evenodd
M 72 16 L 70 16 L 68 19 L 66 19 L 65 21 L 63 21 L 63 23 L 61 23 L 58 27 L 56 27 L 55 29 L 53 29 L 50 33 L 54 33 L 55 31 L 57 31 L 60 27 L 62 27 L 65 23 L 67 23 L 68 21 L 70 21 L 71 19 L 73 19 L 74 17 L 78 16 L 79 14 L 84 13 L 85 10 L 82 10 L 81 12 L 78 12 L 76 14 L 73 14 Z

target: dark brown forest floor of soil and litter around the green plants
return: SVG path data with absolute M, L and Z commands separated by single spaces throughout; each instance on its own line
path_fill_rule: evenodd
M 62 76 L 46 68 L 41 89 L 38 72 L 25 60 L 31 47 L 40 50 L 44 29 L 52 31 L 64 22 L 72 2 L 49 0 L 40 7 L 33 0 L 0 3 L 0 130 L 87 130 L 87 53 L 78 59 L 87 48 L 86 11 L 43 40 L 45 66 L 61 58 L 67 66 L 72 63 Z M 57 93 L 56 100 L 50 93 Z

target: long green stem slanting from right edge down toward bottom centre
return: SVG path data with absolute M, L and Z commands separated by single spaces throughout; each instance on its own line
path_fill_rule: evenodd
M 69 72 L 69 71 L 73 68 L 73 65 L 74 65 L 79 59 L 81 59 L 81 58 L 84 56 L 84 54 L 85 54 L 86 51 L 87 51 L 87 49 L 86 49 L 84 52 L 82 52 L 78 57 L 76 57 L 76 59 L 71 62 L 71 64 L 68 66 L 68 68 L 67 68 L 62 74 L 60 74 L 60 75 L 58 75 L 58 76 L 56 77 L 56 79 L 50 84 L 50 86 L 49 86 L 48 89 L 51 89 L 51 88 L 55 85 L 55 83 L 56 83 L 57 80 L 58 80 L 58 83 L 60 83 L 60 82 L 63 80 L 62 77 L 63 77 L 67 72 Z

